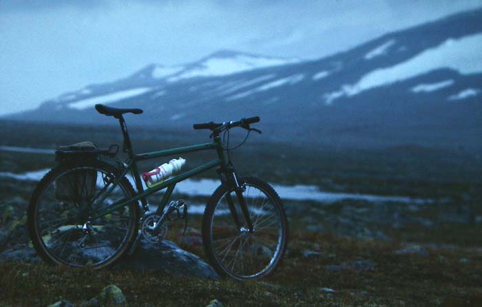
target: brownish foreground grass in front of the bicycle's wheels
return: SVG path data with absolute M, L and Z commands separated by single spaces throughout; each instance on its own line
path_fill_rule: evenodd
M 313 248 L 313 244 L 318 244 L 321 255 L 304 257 L 302 251 Z M 78 304 L 96 296 L 108 284 L 119 286 L 130 306 L 206 306 L 215 298 L 226 306 L 443 306 L 451 300 L 481 298 L 481 253 L 471 249 L 431 250 L 430 256 L 421 257 L 395 255 L 397 248 L 394 242 L 296 233 L 288 257 L 274 275 L 245 283 L 173 277 L 156 271 L 1 264 L 0 299 L 1 306 L 44 306 L 59 299 Z M 328 264 L 360 259 L 370 260 L 375 269 L 326 268 Z M 326 293 L 322 288 L 337 293 Z

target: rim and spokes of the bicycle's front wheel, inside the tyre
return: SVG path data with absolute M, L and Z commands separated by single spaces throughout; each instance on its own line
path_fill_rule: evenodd
M 233 222 L 228 193 L 242 224 Z M 248 230 L 234 191 L 224 193 L 211 219 L 211 246 L 223 271 L 238 279 L 251 279 L 269 273 L 280 259 L 284 227 L 280 207 L 258 185 L 247 183 L 243 192 L 253 232 Z

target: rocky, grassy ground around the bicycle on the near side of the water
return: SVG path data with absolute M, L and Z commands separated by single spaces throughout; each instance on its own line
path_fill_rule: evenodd
M 196 215 L 189 218 L 185 236 L 180 235 L 182 222 L 173 224 L 160 248 L 141 242 L 133 255 L 111 269 L 45 265 L 29 244 L 25 226 L 26 191 L 34 184 L 6 178 L 1 182 L 2 306 L 48 306 L 55 301 L 54 306 L 207 306 L 212 299 L 223 306 L 482 304 L 477 193 L 412 204 L 286 201 L 291 222 L 286 259 L 273 276 L 239 283 L 219 279 L 203 260 Z M 110 284 L 122 289 L 125 301 L 107 304 L 98 299 Z

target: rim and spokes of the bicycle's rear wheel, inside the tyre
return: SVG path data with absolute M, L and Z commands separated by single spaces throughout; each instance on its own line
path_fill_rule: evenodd
M 45 253 L 58 264 L 103 266 L 114 260 L 132 235 L 135 213 L 125 206 L 87 222 L 114 175 L 98 167 L 76 167 L 64 171 L 43 189 L 36 204 L 35 230 Z M 99 196 L 99 197 L 97 197 Z M 104 204 L 128 198 L 118 184 Z

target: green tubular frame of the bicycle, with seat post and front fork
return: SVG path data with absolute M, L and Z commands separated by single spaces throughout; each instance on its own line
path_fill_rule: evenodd
M 114 202 L 114 204 L 109 204 L 108 208 L 101 208 L 101 211 L 94 211 L 94 216 L 91 217 L 92 220 L 96 220 L 97 218 L 101 218 L 103 215 L 107 215 L 108 213 L 111 213 L 112 211 L 115 211 L 117 209 L 120 209 L 121 207 L 126 206 L 129 203 L 136 202 L 140 200 L 140 202 L 143 205 L 144 211 L 148 210 L 147 207 L 147 200 L 146 197 L 148 195 L 151 195 L 152 193 L 156 193 L 157 191 L 160 191 L 162 189 L 167 188 L 165 191 L 162 200 L 160 201 L 160 204 L 158 206 L 158 209 L 156 210 L 156 214 L 161 215 L 167 205 L 167 202 L 169 201 L 169 198 L 171 198 L 171 194 L 174 191 L 174 188 L 176 187 L 176 184 L 182 180 L 185 180 L 187 178 L 191 178 L 192 176 L 196 176 L 199 173 L 202 173 L 204 171 L 207 171 L 209 169 L 213 169 L 214 167 L 220 167 L 220 176 L 221 176 L 221 182 L 227 182 L 228 180 L 226 179 L 227 176 L 222 176 L 222 174 L 232 174 L 233 178 L 233 185 L 235 186 L 235 191 L 236 195 L 238 196 L 238 200 L 240 201 L 240 206 L 242 209 L 242 212 L 244 214 L 244 218 L 247 220 L 247 224 L 249 226 L 249 230 L 253 230 L 253 226 L 251 224 L 251 219 L 249 218 L 249 213 L 247 211 L 246 204 L 244 203 L 244 198 L 242 197 L 242 189 L 240 188 L 240 185 L 238 183 L 238 180 L 235 175 L 235 171 L 232 167 L 229 166 L 229 161 L 227 160 L 227 157 L 224 155 L 224 151 L 222 148 L 222 142 L 221 138 L 219 135 L 213 136 L 213 142 L 209 143 L 202 143 L 198 145 L 191 145 L 187 147 L 177 147 L 173 149 L 165 149 L 165 150 L 160 150 L 160 151 L 151 151 L 143 154 L 134 154 L 134 151 L 132 150 L 132 143 L 129 138 L 129 134 L 127 133 L 127 126 L 125 125 L 125 120 L 123 119 L 122 116 L 118 118 L 119 123 L 121 124 L 121 129 L 123 131 L 123 136 L 124 136 L 124 147 L 125 151 L 127 151 L 127 154 L 129 154 L 129 158 L 124 162 L 124 170 L 121 173 L 120 176 L 117 176 L 114 182 L 112 182 L 112 186 L 107 189 L 107 192 L 103 195 L 103 197 L 98 201 L 98 203 L 102 204 L 104 200 L 112 193 L 112 191 L 115 189 L 115 187 L 118 185 L 118 183 L 122 180 L 122 178 L 127 175 L 129 171 L 132 171 L 132 175 L 134 177 L 134 181 L 136 184 L 136 194 L 134 195 L 133 198 L 129 198 L 128 200 L 119 200 L 118 202 Z M 208 150 L 208 149 L 214 149 L 216 150 L 218 154 L 218 159 L 212 160 L 210 162 L 207 162 L 203 165 L 200 165 L 194 169 L 191 169 L 189 171 L 182 172 L 178 174 L 177 176 L 171 177 L 164 182 L 156 185 L 155 187 L 150 187 L 147 189 L 144 189 L 142 182 L 140 181 L 140 176 L 138 172 L 138 167 L 137 167 L 137 162 L 142 161 L 142 160 L 149 160 L 152 158 L 158 158 L 158 157 L 163 157 L 163 156 L 172 156 L 175 154 L 185 154 L 189 152 L 194 152 L 194 151 L 203 151 L 203 150 Z M 229 184 L 229 182 L 228 182 Z M 108 184 L 107 186 L 108 187 Z M 94 200 L 98 198 L 98 196 L 103 193 L 103 191 L 100 191 Z M 237 213 L 235 213 L 234 205 L 231 200 L 231 196 L 227 196 L 228 202 L 229 202 L 229 207 L 231 209 L 231 214 L 233 215 L 233 220 L 235 223 L 238 225 L 238 227 L 241 226 L 240 221 L 238 219 Z

